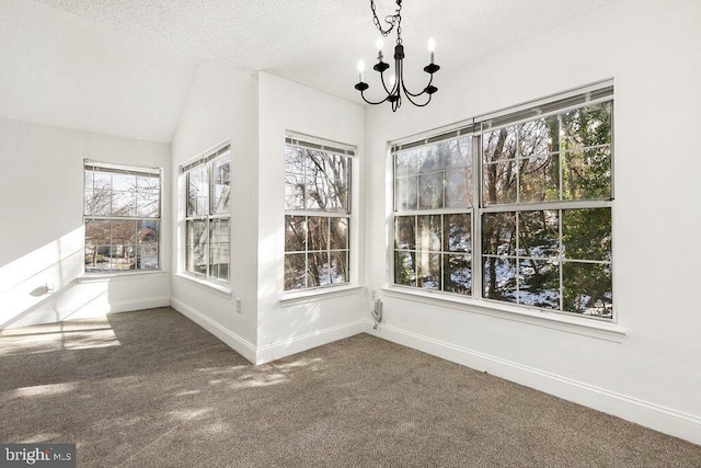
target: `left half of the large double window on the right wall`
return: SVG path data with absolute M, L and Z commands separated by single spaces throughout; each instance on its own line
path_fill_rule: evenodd
M 472 138 L 394 157 L 394 283 L 472 293 Z

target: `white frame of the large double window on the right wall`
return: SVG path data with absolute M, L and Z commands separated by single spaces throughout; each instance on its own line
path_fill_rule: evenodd
M 391 161 L 391 176 L 388 178 L 390 186 L 388 186 L 388 193 L 391 195 L 392 199 L 392 208 L 391 208 L 391 217 L 389 221 L 389 232 L 390 236 L 388 238 L 388 255 L 390 261 L 390 269 L 388 272 L 388 284 L 390 292 L 397 293 L 407 293 L 414 296 L 424 296 L 424 297 L 433 297 L 445 299 L 448 301 L 455 300 L 456 303 L 462 303 L 467 305 L 476 305 L 476 306 L 486 306 L 490 308 L 495 308 L 496 310 L 507 310 L 509 312 L 520 310 L 526 311 L 526 313 L 535 312 L 545 312 L 548 316 L 560 316 L 555 317 L 558 320 L 567 320 L 566 316 L 572 317 L 573 319 L 586 318 L 587 321 L 594 322 L 599 321 L 602 324 L 617 323 L 617 309 L 613 305 L 611 317 L 610 318 L 599 318 L 594 316 L 586 316 L 583 313 L 568 312 L 565 310 L 550 309 L 550 308 L 539 308 L 535 306 L 515 304 L 515 303 L 506 303 L 499 300 L 493 300 L 489 298 L 484 298 L 484 287 L 483 287 L 483 261 L 484 261 L 484 252 L 482 246 L 482 217 L 484 214 L 489 213 L 502 213 L 502 212 L 531 212 L 531 210 L 561 210 L 567 208 L 608 208 L 611 212 L 611 232 L 612 238 L 613 235 L 613 191 L 614 191 L 614 178 L 613 178 L 613 165 L 614 165 L 614 157 L 613 157 L 613 139 L 614 139 L 614 130 L 613 130 L 613 107 L 611 109 L 611 197 L 610 199 L 587 199 L 587 201 L 559 201 L 559 202 L 543 202 L 543 203 L 525 203 L 525 204 L 509 204 L 509 205 L 490 205 L 484 206 L 482 202 L 482 191 L 483 191 L 483 180 L 482 180 L 482 171 L 483 171 L 483 162 L 482 162 L 482 148 L 481 148 L 481 135 L 485 132 L 491 132 L 494 129 L 498 129 L 501 127 L 510 126 L 519 123 L 525 123 L 532 121 L 535 118 L 545 117 L 549 115 L 556 115 L 568 110 L 581 109 L 588 105 L 593 105 L 600 102 L 611 102 L 613 106 L 613 82 L 612 80 L 606 80 L 598 83 L 593 83 L 588 87 L 578 88 L 565 93 L 560 93 L 556 95 L 543 98 L 538 101 L 525 103 L 518 106 L 505 109 L 492 114 L 486 114 L 483 116 L 470 118 L 463 121 L 458 124 L 453 124 L 450 126 L 446 126 L 439 129 L 425 132 L 423 134 L 405 137 L 402 139 L 393 140 L 389 142 L 389 151 L 388 157 Z M 405 286 L 394 283 L 394 226 L 395 226 L 395 217 L 403 215 L 439 215 L 445 213 L 451 213 L 450 209 L 435 209 L 435 210 L 410 210 L 410 212 L 398 212 L 397 203 L 394 201 L 394 191 L 395 191 L 395 182 L 397 175 L 394 173 L 395 168 L 395 152 L 401 151 L 405 148 L 411 148 L 414 146 L 423 146 L 429 145 L 436 141 L 457 138 L 459 135 L 471 134 L 473 135 L 473 205 L 472 205 L 472 284 L 471 295 L 462 295 L 448 293 L 443 290 L 435 289 L 425 289 L 418 286 Z M 518 172 L 518 171 L 517 171 Z M 518 183 L 518 181 L 517 181 Z M 560 190 L 562 191 L 562 168 L 560 168 Z M 418 187 L 417 187 L 418 191 Z M 444 213 L 445 212 L 445 213 Z M 464 210 L 464 213 L 468 213 Z M 560 239 L 562 239 L 562 218 L 560 218 Z M 444 247 L 441 246 L 441 249 Z M 584 261 L 584 263 L 607 263 L 612 264 L 613 259 L 611 261 Z M 443 273 L 443 265 L 441 265 Z M 560 301 L 562 306 L 562 267 L 560 269 L 561 282 L 560 282 Z M 616 282 L 612 278 L 612 293 L 613 297 L 616 297 Z M 562 308 L 562 307 L 561 307 Z

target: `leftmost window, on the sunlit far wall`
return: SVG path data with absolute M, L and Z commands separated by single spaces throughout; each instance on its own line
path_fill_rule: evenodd
M 84 162 L 85 272 L 159 270 L 161 170 Z

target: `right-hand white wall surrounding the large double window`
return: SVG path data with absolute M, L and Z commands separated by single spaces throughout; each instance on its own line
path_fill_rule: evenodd
M 614 80 L 613 288 L 624 335 L 382 292 L 378 335 L 701 443 L 701 3 L 622 0 L 436 76 L 425 109 L 367 118 L 368 287 L 388 286 L 386 144 Z

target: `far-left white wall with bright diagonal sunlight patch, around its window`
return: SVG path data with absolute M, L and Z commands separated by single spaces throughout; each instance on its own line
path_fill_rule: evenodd
M 161 167 L 170 192 L 170 145 L 0 118 L 0 329 L 169 304 L 168 196 L 163 272 L 78 279 L 84 158 Z

